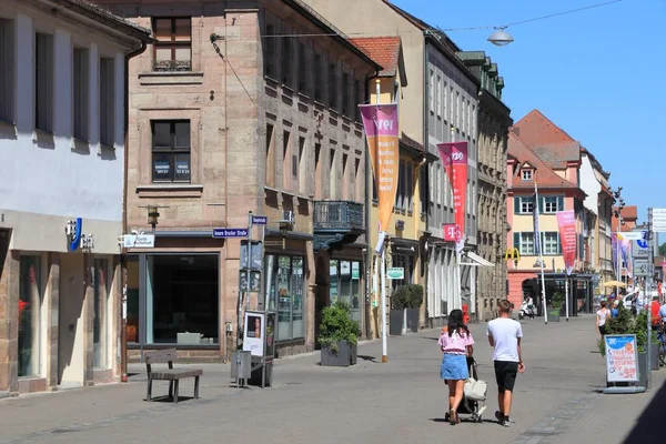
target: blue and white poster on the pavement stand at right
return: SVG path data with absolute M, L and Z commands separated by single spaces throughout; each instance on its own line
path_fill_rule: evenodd
M 607 334 L 606 381 L 638 382 L 638 349 L 635 334 Z

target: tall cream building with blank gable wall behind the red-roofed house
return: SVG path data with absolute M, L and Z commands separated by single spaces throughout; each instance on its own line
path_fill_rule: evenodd
M 420 255 L 425 262 L 421 269 L 426 283 L 424 324 L 442 324 L 451 310 L 462 307 L 463 300 L 473 313 L 475 300 L 471 294 L 476 293 L 476 266 L 462 268 L 462 289 L 457 289 L 455 249 L 443 240 L 443 224 L 453 223 L 453 195 L 436 144 L 468 142 L 465 236 L 466 250 L 473 252 L 477 244 L 478 79 L 457 58 L 460 48 L 446 36 L 433 32 L 433 27 L 390 1 L 307 0 L 307 3 L 347 33 L 401 37 L 410 79 L 398 101 L 401 132 L 424 147 L 427 164 L 420 171 L 420 200 L 425 210 L 425 225 L 418 232 Z M 351 9 L 354 14 L 349 14 Z M 465 261 L 473 262 L 467 258 Z

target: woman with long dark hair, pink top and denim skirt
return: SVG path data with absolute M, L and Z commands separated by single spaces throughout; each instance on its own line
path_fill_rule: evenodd
M 448 326 L 442 330 L 440 347 L 442 357 L 441 376 L 448 385 L 448 421 L 458 424 L 457 408 L 463 401 L 465 380 L 470 377 L 467 356 L 472 356 L 474 339 L 463 322 L 463 312 L 453 310 L 448 314 Z

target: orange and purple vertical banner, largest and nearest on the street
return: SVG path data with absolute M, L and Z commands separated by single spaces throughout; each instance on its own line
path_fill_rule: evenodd
M 389 231 L 400 171 L 397 104 L 360 104 L 359 108 L 377 190 L 380 231 Z

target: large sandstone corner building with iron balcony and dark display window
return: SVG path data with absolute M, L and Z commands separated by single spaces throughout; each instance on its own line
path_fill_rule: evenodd
M 212 233 L 248 228 L 250 211 L 268 224 L 253 230 L 263 291 L 249 306 L 278 312 L 278 353 L 314 350 L 336 300 L 364 327 L 355 104 L 381 65 L 297 0 L 104 3 L 157 40 L 130 64 L 128 230 L 148 230 L 147 206 L 160 213 L 154 248 L 128 256 L 132 354 L 174 344 L 218 361 L 235 347 L 240 241 Z

